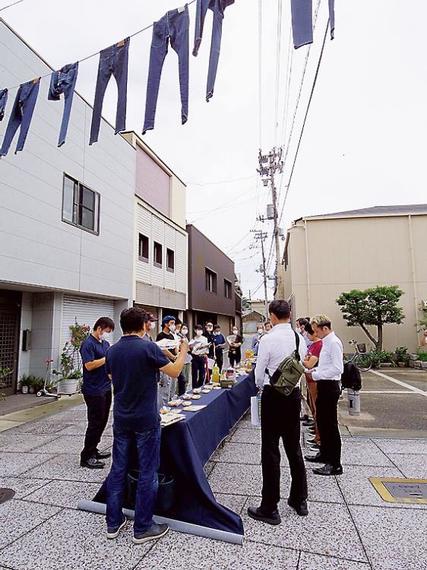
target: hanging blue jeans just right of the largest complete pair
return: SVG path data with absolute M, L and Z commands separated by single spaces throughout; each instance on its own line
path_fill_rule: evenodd
M 193 55 L 199 53 L 202 43 L 203 28 L 208 9 L 213 12 L 211 53 L 209 57 L 208 83 L 206 87 L 206 101 L 213 97 L 215 80 L 218 71 L 219 54 L 221 51 L 222 23 L 224 20 L 224 10 L 234 0 L 197 0 L 196 6 L 196 29 L 194 35 Z

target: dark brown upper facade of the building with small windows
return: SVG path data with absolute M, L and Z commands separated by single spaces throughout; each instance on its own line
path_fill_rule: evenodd
M 187 232 L 189 308 L 234 317 L 234 262 L 194 226 Z M 217 274 L 217 293 L 206 291 L 206 268 Z M 224 279 L 231 283 L 231 299 L 225 297 Z

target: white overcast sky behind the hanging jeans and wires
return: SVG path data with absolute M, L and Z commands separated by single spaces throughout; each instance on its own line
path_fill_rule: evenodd
M 10 0 L 9 0 L 10 1 Z M 9 3 L 0 1 L 0 7 Z M 313 0 L 316 9 L 318 0 Z M 336 0 L 336 39 L 327 41 L 319 81 L 282 226 L 293 219 L 383 204 L 427 202 L 427 58 L 425 0 Z M 179 5 L 179 4 L 178 4 Z M 263 0 L 262 129 L 259 129 L 258 0 L 227 9 L 214 98 L 204 100 L 209 14 L 198 58 L 191 56 L 190 117 L 180 125 L 176 54 L 164 67 L 156 129 L 146 142 L 188 184 L 188 221 L 236 262 L 245 293 L 262 296 L 260 257 L 250 230 L 271 200 L 257 184 L 257 154 L 287 144 L 308 48 L 292 49 L 288 88 L 290 1 L 283 0 L 276 82 L 278 0 Z M 24 0 L 1 16 L 51 65 L 96 52 L 177 7 L 171 0 Z M 190 6 L 191 38 L 194 9 Z M 322 0 L 305 86 L 280 191 L 294 157 L 327 22 Z M 141 132 L 151 31 L 131 43 L 127 127 Z M 80 67 L 77 90 L 93 101 L 98 59 Z M 22 78 L 27 80 L 30 78 Z M 276 86 L 279 90 L 277 91 Z M 115 85 L 104 115 L 115 116 Z M 276 115 L 276 98 L 278 113 Z M 276 116 L 278 120 L 276 121 Z M 270 230 L 266 223 L 262 226 Z M 269 249 L 270 239 L 267 242 Z M 321 244 L 319 244 L 321 247 Z M 271 265 L 272 273 L 273 265 Z

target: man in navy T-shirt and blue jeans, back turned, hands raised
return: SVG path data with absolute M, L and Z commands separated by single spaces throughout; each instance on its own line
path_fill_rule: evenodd
M 160 538 L 168 531 L 167 525 L 153 522 L 160 464 L 157 378 L 159 370 L 177 378 L 188 352 L 188 344 L 183 340 L 176 360 L 171 362 L 156 343 L 144 342 L 142 337 L 148 318 L 138 307 L 122 311 L 123 336 L 108 351 L 106 362 L 114 389 L 113 463 L 107 479 L 107 538 L 116 538 L 126 523 L 123 499 L 130 450 L 136 444 L 139 477 L 135 499 L 135 544 Z

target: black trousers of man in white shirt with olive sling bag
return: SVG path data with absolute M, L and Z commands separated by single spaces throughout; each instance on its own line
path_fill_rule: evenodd
M 280 500 L 280 439 L 291 468 L 289 498 L 300 503 L 307 499 L 307 475 L 300 444 L 301 391 L 295 388 L 284 396 L 271 386 L 264 388 L 261 398 L 261 509 L 272 513 Z

